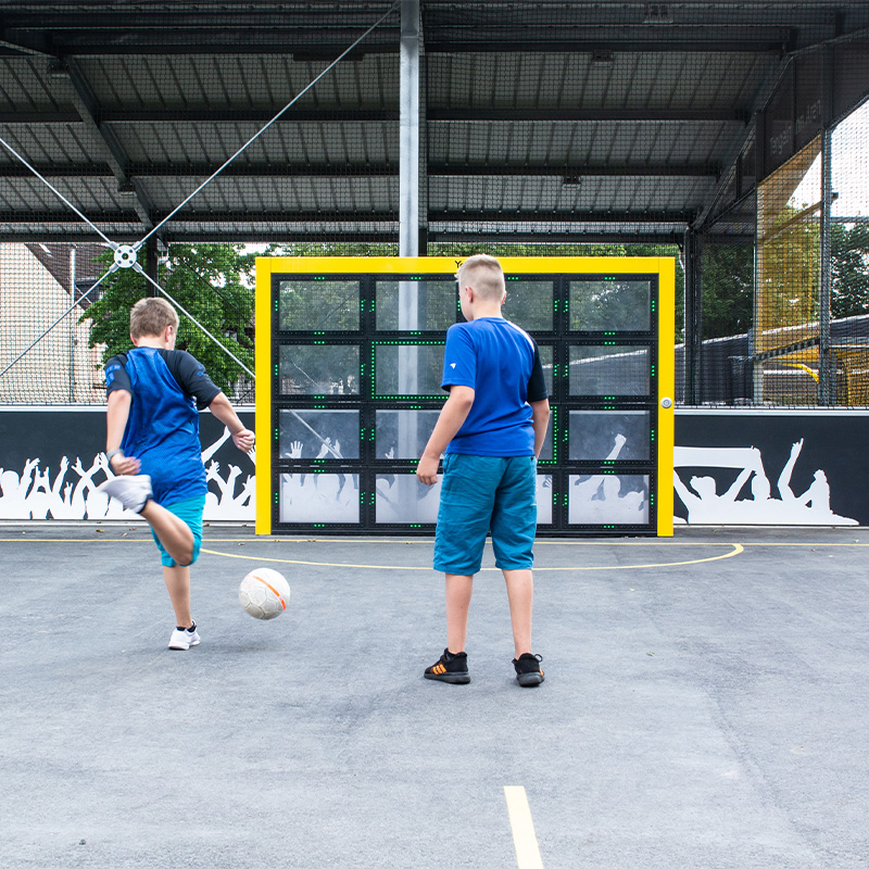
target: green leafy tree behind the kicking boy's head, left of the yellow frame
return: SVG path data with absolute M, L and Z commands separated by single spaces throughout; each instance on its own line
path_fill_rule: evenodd
M 106 267 L 111 251 L 100 257 Z M 158 284 L 213 336 L 253 369 L 253 254 L 239 244 L 172 244 L 161 263 Z M 103 362 L 129 350 L 129 311 L 156 293 L 131 268 L 115 272 L 101 285 L 104 292 L 81 316 L 91 319 L 90 345 L 105 344 Z M 159 294 L 159 293 L 156 293 Z M 230 395 L 247 377 L 243 368 L 180 311 L 176 347 L 192 353 L 214 382 Z

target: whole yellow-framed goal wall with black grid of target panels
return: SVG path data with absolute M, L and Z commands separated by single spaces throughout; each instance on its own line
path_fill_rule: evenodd
M 459 261 L 461 263 L 461 261 Z M 673 261 L 503 257 L 552 416 L 540 536 L 672 533 Z M 416 479 L 463 317 L 445 257 L 256 261 L 256 532 L 434 530 Z

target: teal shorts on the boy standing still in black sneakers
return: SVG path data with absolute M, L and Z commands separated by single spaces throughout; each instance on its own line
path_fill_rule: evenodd
M 496 567 L 524 570 L 533 565 L 537 459 L 448 454 L 434 532 L 434 569 L 459 576 L 478 572 L 490 530 Z

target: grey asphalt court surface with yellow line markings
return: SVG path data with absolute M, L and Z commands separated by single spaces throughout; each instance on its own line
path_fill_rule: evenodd
M 206 528 L 179 653 L 147 529 L 0 525 L 0 867 L 869 867 L 869 529 L 540 540 L 539 689 L 491 553 L 421 678 L 431 550 Z

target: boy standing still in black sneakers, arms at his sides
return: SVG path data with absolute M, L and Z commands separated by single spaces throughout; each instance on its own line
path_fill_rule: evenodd
M 507 584 L 516 679 L 543 681 L 540 655 L 531 652 L 537 529 L 537 456 L 550 403 L 533 339 L 504 319 L 504 273 L 493 256 L 477 254 L 458 269 L 458 295 L 467 323 L 446 331 L 442 386 L 450 398 L 438 417 L 416 476 L 443 486 L 434 537 L 434 569 L 446 575 L 446 648 L 426 679 L 470 681 L 465 652 L 474 575 L 486 534 L 492 532 L 495 565 Z

